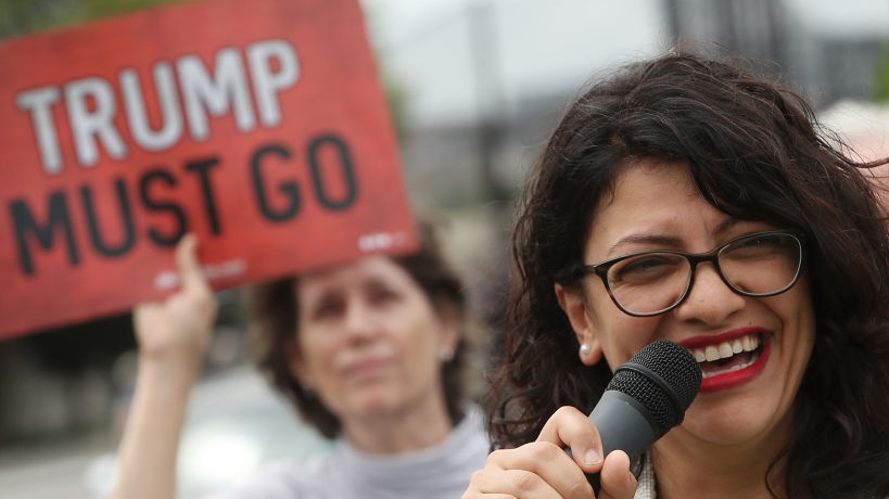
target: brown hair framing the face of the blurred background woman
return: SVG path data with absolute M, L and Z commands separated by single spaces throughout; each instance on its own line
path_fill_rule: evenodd
M 423 290 L 439 314 L 456 311 L 461 320 L 461 337 L 450 360 L 444 362 L 442 382 L 452 420 L 462 417 L 466 401 L 474 396 L 468 378 L 473 371 L 470 353 L 474 347 L 472 320 L 468 312 L 462 281 L 445 259 L 431 219 L 417 223 L 420 239 L 418 252 L 392 256 L 392 260 L 407 270 Z M 254 363 L 278 392 L 291 400 L 300 415 L 327 438 L 340 433 L 340 420 L 319 398 L 304 389 L 291 373 L 285 345 L 295 342 L 297 329 L 296 284 L 299 277 L 288 277 L 257 284 L 246 294 L 246 306 L 254 327 L 251 343 Z

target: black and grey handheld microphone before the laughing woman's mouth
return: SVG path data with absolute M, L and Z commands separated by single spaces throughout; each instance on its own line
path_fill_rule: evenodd
M 682 423 L 701 386 L 695 357 L 673 342 L 658 340 L 618 366 L 589 419 L 602 440 L 602 457 L 614 449 L 637 459 L 658 438 Z M 569 452 L 570 453 L 570 452 Z M 587 474 L 598 495 L 599 475 Z

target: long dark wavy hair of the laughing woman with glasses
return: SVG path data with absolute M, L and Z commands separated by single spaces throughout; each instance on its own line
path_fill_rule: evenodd
M 563 276 L 582 263 L 596 207 L 622 168 L 684 162 L 717 209 L 807 242 L 815 345 L 766 486 L 775 497 L 889 497 L 889 239 L 862 170 L 885 162 L 851 159 L 809 103 L 754 67 L 674 49 L 623 66 L 567 111 L 512 234 L 504 358 L 486 398 L 493 448 L 534 440 L 560 406 L 596 405 L 611 372 L 580 361 L 554 284 L 577 284 Z

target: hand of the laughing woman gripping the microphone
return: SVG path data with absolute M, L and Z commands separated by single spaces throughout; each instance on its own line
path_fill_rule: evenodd
M 563 450 L 566 446 L 572 456 Z M 485 468 L 473 473 L 462 499 L 589 499 L 595 496 L 584 473 L 600 473 L 598 498 L 632 499 L 636 478 L 630 472 L 630 458 L 615 450 L 602 460 L 601 452 L 596 425 L 577 409 L 562 407 L 536 442 L 492 452 Z

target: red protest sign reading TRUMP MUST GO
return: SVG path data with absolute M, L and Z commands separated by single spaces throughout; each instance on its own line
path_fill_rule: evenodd
M 356 0 L 204 1 L 0 43 L 0 338 L 416 247 Z

